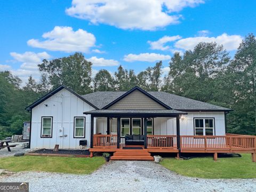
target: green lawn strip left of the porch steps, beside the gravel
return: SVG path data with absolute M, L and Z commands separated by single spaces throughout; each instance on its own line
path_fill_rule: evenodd
M 43 157 L 22 156 L 0 158 L 0 169 L 9 171 L 47 171 L 73 174 L 89 174 L 105 163 L 102 157 Z

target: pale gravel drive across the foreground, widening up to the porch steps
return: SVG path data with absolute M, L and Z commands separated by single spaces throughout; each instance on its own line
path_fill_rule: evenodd
M 29 182 L 29 191 L 255 191 L 256 179 L 197 179 L 147 161 L 111 161 L 90 175 L 20 172 L 0 182 Z

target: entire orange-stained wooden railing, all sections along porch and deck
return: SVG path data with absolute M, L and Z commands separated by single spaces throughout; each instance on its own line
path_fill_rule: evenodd
M 117 135 L 93 135 L 93 148 L 117 148 Z M 147 148 L 177 149 L 177 135 L 147 135 Z M 256 151 L 256 136 L 252 135 L 181 135 L 182 149 L 253 150 Z

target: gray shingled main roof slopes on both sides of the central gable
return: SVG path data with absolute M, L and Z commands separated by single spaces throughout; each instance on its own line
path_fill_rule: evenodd
M 117 98 L 121 97 L 121 95 L 123 95 L 124 93 L 126 92 L 102 91 L 82 95 L 82 97 L 90 103 L 92 103 L 94 106 L 98 107 L 99 109 L 102 109 L 103 107 L 107 106 L 110 102 L 113 102 Z M 194 99 L 189 99 L 166 92 L 149 91 L 148 93 L 156 99 L 158 99 L 159 101 L 165 103 L 165 105 L 170 106 L 172 109 L 175 110 L 231 110 L 225 107 L 212 105 L 210 103 L 197 101 Z

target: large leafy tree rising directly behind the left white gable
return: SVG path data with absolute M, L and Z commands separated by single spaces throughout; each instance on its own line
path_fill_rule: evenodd
M 92 63 L 86 61 L 82 53 L 75 53 L 69 57 L 53 59 L 38 65 L 39 70 L 48 74 L 53 88 L 63 84 L 78 94 L 90 93 L 92 82 Z

